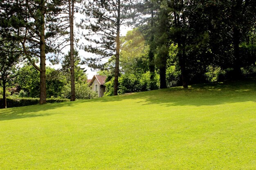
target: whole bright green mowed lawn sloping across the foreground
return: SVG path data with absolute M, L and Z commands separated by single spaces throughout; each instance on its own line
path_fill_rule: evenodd
M 0 169 L 255 170 L 256 79 L 1 109 Z

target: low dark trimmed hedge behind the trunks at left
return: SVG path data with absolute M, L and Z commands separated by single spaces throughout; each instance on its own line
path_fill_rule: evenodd
M 16 99 L 6 99 L 7 108 L 29 106 L 34 104 L 39 104 L 39 98 L 16 98 Z M 46 99 L 47 103 L 60 103 L 68 102 L 69 99 Z M 3 108 L 3 99 L 0 99 L 0 108 Z

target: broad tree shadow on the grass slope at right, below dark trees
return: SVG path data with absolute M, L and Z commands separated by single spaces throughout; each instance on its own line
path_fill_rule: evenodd
M 90 102 L 117 102 L 141 99 L 138 104 L 165 106 L 212 106 L 236 102 L 256 102 L 256 78 L 241 81 L 194 84 L 189 88 L 166 88 L 155 91 L 103 97 Z

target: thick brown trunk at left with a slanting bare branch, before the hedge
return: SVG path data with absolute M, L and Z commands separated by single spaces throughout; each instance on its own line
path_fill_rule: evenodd
M 42 15 L 45 21 L 44 15 Z M 45 64 L 45 22 L 41 24 L 40 31 L 40 104 L 46 103 L 46 64 Z

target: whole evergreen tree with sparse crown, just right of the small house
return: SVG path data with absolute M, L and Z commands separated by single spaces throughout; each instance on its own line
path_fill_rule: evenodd
M 86 59 L 88 66 L 106 69 L 104 65 L 115 60 L 114 95 L 117 95 L 119 76 L 120 28 L 128 24 L 131 5 L 131 0 L 86 1 L 83 13 L 87 18 L 81 20 L 80 25 L 89 30 L 85 39 L 91 44 L 84 47 L 85 51 L 97 55 Z

